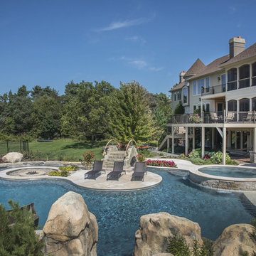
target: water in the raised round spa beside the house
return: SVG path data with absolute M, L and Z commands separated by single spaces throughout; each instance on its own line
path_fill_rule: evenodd
M 204 167 L 199 169 L 203 174 L 233 178 L 256 178 L 256 169 L 242 167 Z

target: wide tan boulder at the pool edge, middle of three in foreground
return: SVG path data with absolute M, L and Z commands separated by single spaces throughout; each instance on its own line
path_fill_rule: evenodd
M 193 247 L 193 240 L 203 244 L 198 223 L 169 213 L 143 215 L 139 230 L 135 233 L 134 256 L 152 256 L 166 252 L 174 234 L 183 235 L 189 247 Z

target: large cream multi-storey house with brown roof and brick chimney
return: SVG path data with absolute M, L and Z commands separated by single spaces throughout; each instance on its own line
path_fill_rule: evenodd
M 180 73 L 179 84 L 170 92 L 173 110 L 181 104 L 184 114 L 169 119 L 170 133 L 159 148 L 167 144 L 174 153 L 176 140 L 183 138 L 187 154 L 190 140 L 195 149 L 195 128 L 200 127 L 202 157 L 206 146 L 220 147 L 223 156 L 227 149 L 250 151 L 255 162 L 256 43 L 245 49 L 245 39 L 238 36 L 230 39 L 229 48 L 228 55 L 208 65 L 197 59 Z

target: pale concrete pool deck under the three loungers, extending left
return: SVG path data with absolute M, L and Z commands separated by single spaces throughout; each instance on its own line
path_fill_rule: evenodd
M 31 162 L 30 164 L 32 164 Z M 17 164 L 18 165 L 18 164 Z M 20 163 L 21 165 L 21 163 Z M 3 167 L 0 164 L 0 167 Z M 27 175 L 27 176 L 10 176 L 8 173 L 9 172 L 14 172 L 18 170 L 27 170 L 29 169 L 49 169 L 51 170 L 58 170 L 58 167 L 55 166 L 15 166 L 14 168 L 8 168 L 0 171 L 0 178 L 4 179 L 11 179 L 11 180 L 16 180 L 16 181 L 31 181 L 31 180 L 37 180 L 37 179 L 62 179 L 65 181 L 71 181 L 75 183 L 75 185 L 83 187 L 83 188 L 90 188 L 90 189 L 95 189 L 95 190 L 100 190 L 100 191 L 134 191 L 134 190 L 139 190 L 143 188 L 150 188 L 157 186 L 159 183 L 161 183 L 162 178 L 161 176 L 151 173 L 150 171 L 147 171 L 146 174 L 144 175 L 144 181 L 131 181 L 132 178 L 132 172 L 129 171 L 127 174 L 123 174 L 120 178 L 119 181 L 117 180 L 108 180 L 107 181 L 107 174 L 102 172 L 100 176 L 97 176 L 96 179 L 94 178 L 86 178 L 85 179 L 85 173 L 88 170 L 78 170 L 78 171 L 73 171 L 70 172 L 70 176 L 68 177 L 60 177 L 60 176 L 48 176 L 47 174 L 45 175 Z

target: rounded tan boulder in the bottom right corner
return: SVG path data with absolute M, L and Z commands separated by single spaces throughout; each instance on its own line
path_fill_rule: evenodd
M 249 224 L 235 224 L 225 228 L 213 244 L 214 255 L 239 256 L 245 251 L 252 255 L 256 252 L 253 231 L 254 227 Z

